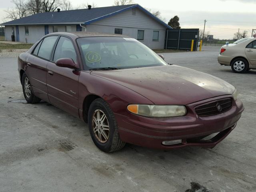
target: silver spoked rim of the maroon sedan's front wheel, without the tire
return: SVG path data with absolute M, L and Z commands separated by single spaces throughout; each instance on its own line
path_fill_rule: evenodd
M 109 138 L 109 124 L 106 114 L 97 109 L 92 115 L 92 128 L 94 135 L 101 143 L 106 143 Z

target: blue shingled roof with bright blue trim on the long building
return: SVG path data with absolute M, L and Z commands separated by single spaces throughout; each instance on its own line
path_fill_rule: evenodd
M 148 12 L 142 6 L 138 4 L 131 5 L 121 5 L 121 6 L 110 6 L 110 7 L 99 7 L 92 9 L 77 9 L 77 10 L 68 10 L 60 12 L 44 12 L 38 13 L 35 15 L 30 15 L 24 18 L 12 20 L 9 22 L 2 23 L 0 25 L 51 25 L 51 24 L 91 24 L 100 19 L 104 19 L 109 16 L 113 16 L 120 12 L 132 9 L 139 8 L 148 16 L 152 17 L 154 20 L 157 20 L 166 28 L 171 28 L 165 22 L 155 17 L 153 14 Z

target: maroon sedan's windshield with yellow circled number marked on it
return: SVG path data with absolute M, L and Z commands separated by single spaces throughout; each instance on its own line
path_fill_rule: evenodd
M 167 65 L 160 56 L 134 38 L 84 37 L 77 43 L 85 70 Z

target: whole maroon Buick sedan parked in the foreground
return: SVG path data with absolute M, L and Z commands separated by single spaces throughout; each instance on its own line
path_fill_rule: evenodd
M 244 110 L 236 88 L 161 57 L 127 36 L 59 32 L 20 54 L 18 71 L 28 103 L 42 99 L 84 120 L 104 152 L 126 142 L 213 148 Z

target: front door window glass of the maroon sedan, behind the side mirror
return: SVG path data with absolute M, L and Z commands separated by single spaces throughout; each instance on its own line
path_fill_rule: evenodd
M 76 51 L 72 41 L 66 37 L 60 37 L 58 44 L 56 46 L 53 61 L 60 58 L 70 58 L 76 63 Z

